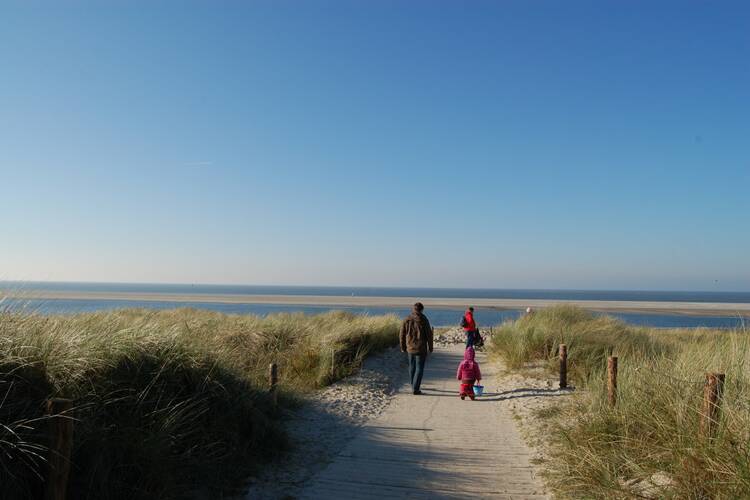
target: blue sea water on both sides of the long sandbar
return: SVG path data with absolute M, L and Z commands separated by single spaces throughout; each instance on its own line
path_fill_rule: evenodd
M 635 290 L 531 290 L 489 288 L 398 288 L 398 287 L 330 287 L 330 286 L 271 286 L 271 285 L 190 285 L 149 283 L 63 283 L 0 281 L 1 290 L 21 294 L 37 291 L 57 292 L 114 292 L 165 294 L 241 294 L 241 295 L 331 295 L 358 297 L 421 297 L 421 298 L 487 298 L 487 299 L 544 299 L 544 300 L 610 300 L 650 302 L 725 302 L 750 303 L 750 292 L 718 291 L 635 291 Z M 467 304 L 469 305 L 469 304 Z M 139 300 L 71 300 L 71 299 L 10 299 L 0 301 L 0 310 L 25 310 L 40 314 L 72 314 L 119 308 L 174 309 L 192 307 L 231 314 L 265 316 L 280 312 L 322 313 L 345 310 L 357 314 L 396 314 L 405 317 L 408 308 L 399 307 L 341 307 L 310 305 L 226 304 L 217 302 L 169 302 Z M 425 311 L 435 326 L 458 325 L 462 312 L 449 308 L 429 308 Z M 517 318 L 521 311 L 476 308 L 480 326 L 492 326 Z M 741 315 L 696 316 L 665 313 L 607 313 L 633 325 L 659 328 L 744 328 L 750 318 Z

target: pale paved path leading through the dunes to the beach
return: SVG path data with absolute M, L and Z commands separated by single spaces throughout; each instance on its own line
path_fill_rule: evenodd
M 504 398 L 458 397 L 462 355 L 463 346 L 436 348 L 424 394 L 403 385 L 298 498 L 547 498 Z M 481 353 L 477 361 L 491 389 L 493 366 Z

